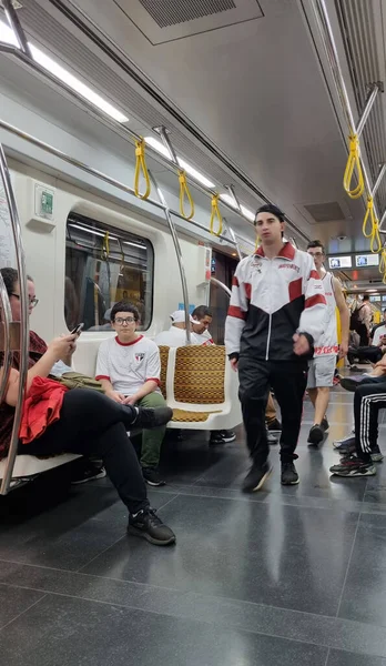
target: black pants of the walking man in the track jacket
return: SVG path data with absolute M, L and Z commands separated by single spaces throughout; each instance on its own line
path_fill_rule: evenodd
M 291 462 L 296 455 L 302 423 L 303 396 L 307 384 L 305 361 L 263 361 L 240 356 L 240 391 L 246 443 L 258 466 L 268 457 L 265 407 L 272 386 L 282 412 L 281 460 Z

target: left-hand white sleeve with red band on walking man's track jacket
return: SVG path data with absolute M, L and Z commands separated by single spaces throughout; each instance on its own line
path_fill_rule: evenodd
M 231 303 L 225 320 L 225 347 L 228 355 L 240 352 L 240 339 L 248 311 L 248 301 L 242 280 L 244 261 L 238 263 L 232 280 Z

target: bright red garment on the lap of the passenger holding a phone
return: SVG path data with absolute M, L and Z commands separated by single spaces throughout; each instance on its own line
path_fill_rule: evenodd
M 40 437 L 51 423 L 60 417 L 65 386 L 48 380 L 34 377 L 23 405 L 19 437 L 29 444 Z

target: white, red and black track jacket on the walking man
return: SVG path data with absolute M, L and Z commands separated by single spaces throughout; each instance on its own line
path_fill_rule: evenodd
M 272 260 L 258 248 L 238 263 L 233 278 L 226 353 L 294 360 L 294 333 L 306 333 L 317 343 L 325 315 L 324 286 L 313 258 L 291 243 Z

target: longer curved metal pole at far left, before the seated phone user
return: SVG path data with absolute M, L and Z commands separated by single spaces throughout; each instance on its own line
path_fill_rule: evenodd
M 11 176 L 9 173 L 7 159 L 2 145 L 0 144 L 0 175 L 4 185 L 6 199 L 9 208 L 11 228 L 14 240 L 16 255 L 17 255 L 17 268 L 19 275 L 19 289 L 20 289 L 20 314 L 21 314 L 21 330 L 20 330 L 20 365 L 19 365 L 19 390 L 18 398 L 14 408 L 13 427 L 11 435 L 11 443 L 8 451 L 8 457 L 6 463 L 6 472 L 2 478 L 0 494 L 7 495 L 14 467 L 14 461 L 18 455 L 19 446 L 19 428 L 21 422 L 21 412 L 23 406 L 24 389 L 27 382 L 28 372 L 28 356 L 29 356 L 29 307 L 28 307 L 28 292 L 27 292 L 27 271 L 26 271 L 26 255 L 21 239 L 21 225 L 19 220 L 18 208 L 13 194 L 13 188 Z

